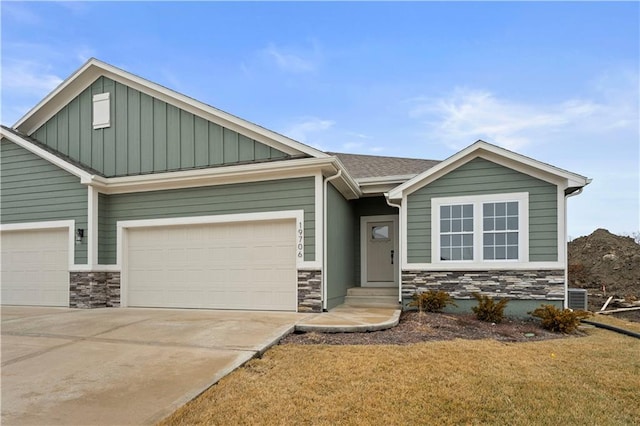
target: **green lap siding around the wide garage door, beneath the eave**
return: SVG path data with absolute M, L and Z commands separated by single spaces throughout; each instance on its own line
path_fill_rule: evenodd
M 116 262 L 118 221 L 304 210 L 304 258 L 315 260 L 315 178 L 116 194 L 98 198 L 101 264 Z

